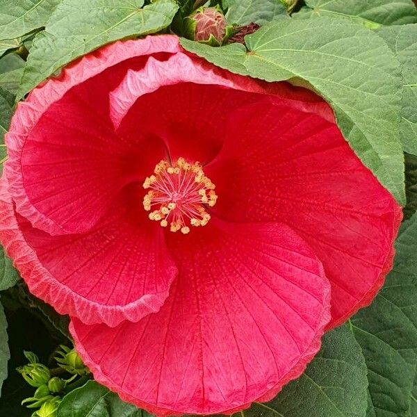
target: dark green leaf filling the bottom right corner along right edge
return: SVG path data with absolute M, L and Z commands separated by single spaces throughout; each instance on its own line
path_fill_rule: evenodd
M 417 366 L 417 215 L 402 224 L 393 271 L 351 320 L 368 366 L 368 416 L 411 417 Z

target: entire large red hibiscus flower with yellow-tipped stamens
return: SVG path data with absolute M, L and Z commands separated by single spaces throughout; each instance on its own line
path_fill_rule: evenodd
M 6 142 L 1 243 L 95 378 L 159 416 L 270 400 L 391 268 L 400 207 L 325 101 L 172 35 L 70 65 Z

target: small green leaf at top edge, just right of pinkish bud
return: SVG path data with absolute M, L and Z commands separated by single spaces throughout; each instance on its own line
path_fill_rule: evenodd
M 279 0 L 229 0 L 226 18 L 230 24 L 265 24 L 274 19 L 288 17 L 285 6 Z

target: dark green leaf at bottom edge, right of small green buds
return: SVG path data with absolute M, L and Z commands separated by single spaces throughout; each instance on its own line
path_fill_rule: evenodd
M 97 382 L 89 381 L 65 395 L 57 417 L 150 417 L 146 411 L 127 404 Z

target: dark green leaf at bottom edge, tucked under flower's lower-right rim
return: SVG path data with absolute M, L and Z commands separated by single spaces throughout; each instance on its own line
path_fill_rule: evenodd
M 232 417 L 365 417 L 367 386 L 361 348 L 347 327 L 339 327 L 324 336 L 304 374 L 275 400 Z

